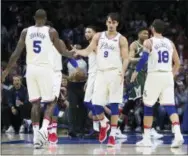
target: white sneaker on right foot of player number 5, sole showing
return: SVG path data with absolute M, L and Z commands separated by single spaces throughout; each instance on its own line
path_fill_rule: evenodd
M 48 131 L 40 129 L 37 133 L 36 143 L 43 146 L 48 142 Z

